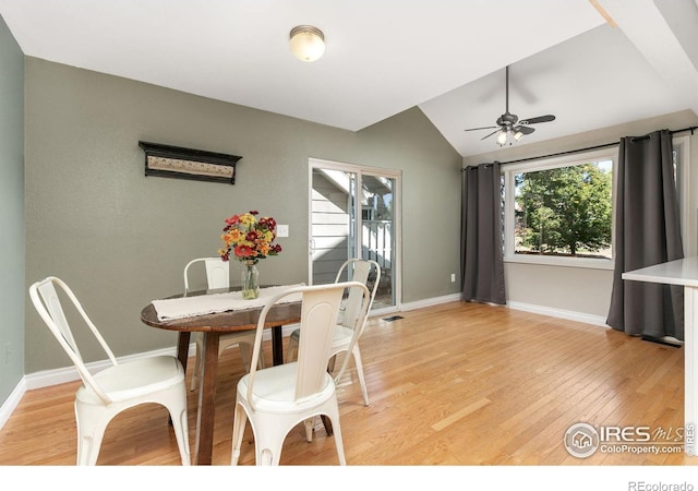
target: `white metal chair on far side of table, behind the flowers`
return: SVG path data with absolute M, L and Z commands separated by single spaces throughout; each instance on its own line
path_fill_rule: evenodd
M 220 258 L 198 258 L 190 261 L 184 266 L 184 292 L 190 291 L 190 268 L 195 264 L 201 264 L 206 268 L 206 279 L 208 289 L 228 288 L 230 286 L 230 266 L 229 262 L 221 260 Z M 204 359 L 201 356 L 203 351 L 203 336 L 198 334 L 196 336 L 196 359 L 194 361 L 194 372 L 192 374 L 192 381 L 190 391 L 193 391 L 198 385 L 198 376 L 204 363 Z M 250 371 L 250 359 L 252 356 L 252 345 L 254 345 L 254 331 L 241 331 L 239 333 L 227 333 L 219 337 L 218 342 L 218 356 L 220 356 L 226 349 L 238 346 L 240 349 L 240 356 L 242 357 L 242 363 L 246 371 Z M 260 367 L 264 367 L 264 354 L 260 357 Z

